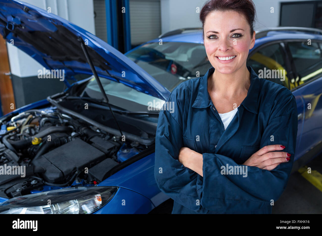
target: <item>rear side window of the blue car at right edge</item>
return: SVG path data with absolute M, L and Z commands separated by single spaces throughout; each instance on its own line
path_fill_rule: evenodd
M 294 87 L 322 75 L 321 44 L 308 41 L 289 42 L 288 47 L 293 57 L 298 77 L 291 80 Z

